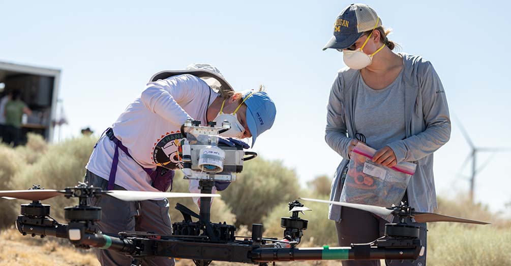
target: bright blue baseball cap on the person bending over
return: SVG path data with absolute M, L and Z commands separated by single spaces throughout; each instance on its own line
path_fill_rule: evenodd
M 249 95 L 251 94 L 251 95 Z M 247 105 L 247 125 L 252 134 L 252 147 L 255 139 L 271 128 L 275 121 L 275 103 L 264 91 L 249 91 L 243 97 Z

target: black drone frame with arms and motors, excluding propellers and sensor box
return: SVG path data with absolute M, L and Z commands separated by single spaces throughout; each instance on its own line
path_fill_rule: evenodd
M 212 192 L 213 181 L 200 180 L 201 193 Z M 263 226 L 252 225 L 251 236 L 235 236 L 235 227 L 224 223 L 211 223 L 210 197 L 201 197 L 200 214 L 177 204 L 184 221 L 173 224 L 173 235 L 159 235 L 153 232 L 120 232 L 117 235 L 101 232 L 97 223 L 101 219 L 101 208 L 87 204 L 88 198 L 106 194 L 100 188 L 81 183 L 66 188 L 67 198 L 79 198 L 79 204 L 64 209 L 68 224 L 62 224 L 49 217 L 50 205 L 33 201 L 21 205 L 21 215 L 16 228 L 24 235 L 55 236 L 68 238 L 77 248 L 96 247 L 123 252 L 133 258 L 133 264 L 142 263 L 154 256 L 193 259 L 196 265 L 205 266 L 211 261 L 229 261 L 266 265 L 274 261 L 293 260 L 360 260 L 399 259 L 413 260 L 421 253 L 419 228 L 404 223 L 387 224 L 386 235 L 366 244 L 352 244 L 350 247 L 297 248 L 307 220 L 300 219 L 300 211 L 307 209 L 299 201 L 289 204 L 291 217 L 282 218 L 284 237 L 263 237 Z M 197 218 L 197 222 L 192 221 Z M 281 239 L 281 240 L 279 240 Z

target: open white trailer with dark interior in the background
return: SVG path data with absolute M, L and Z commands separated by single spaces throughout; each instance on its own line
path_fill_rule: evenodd
M 32 110 L 22 129 L 53 140 L 57 115 L 60 69 L 20 65 L 0 61 L 0 96 L 19 90 L 20 99 Z M 25 135 L 24 134 L 24 135 Z

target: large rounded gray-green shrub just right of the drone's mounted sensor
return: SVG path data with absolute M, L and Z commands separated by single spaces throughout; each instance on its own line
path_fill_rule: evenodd
M 221 195 L 236 215 L 236 225 L 251 227 L 274 206 L 296 199 L 299 188 L 295 171 L 282 161 L 257 158 L 243 165 L 243 172 Z

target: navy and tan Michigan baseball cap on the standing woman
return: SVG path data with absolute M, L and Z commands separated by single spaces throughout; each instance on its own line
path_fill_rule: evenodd
M 352 46 L 366 31 L 382 25 L 376 11 L 364 4 L 351 4 L 344 8 L 334 23 L 334 36 L 323 47 L 346 49 Z

